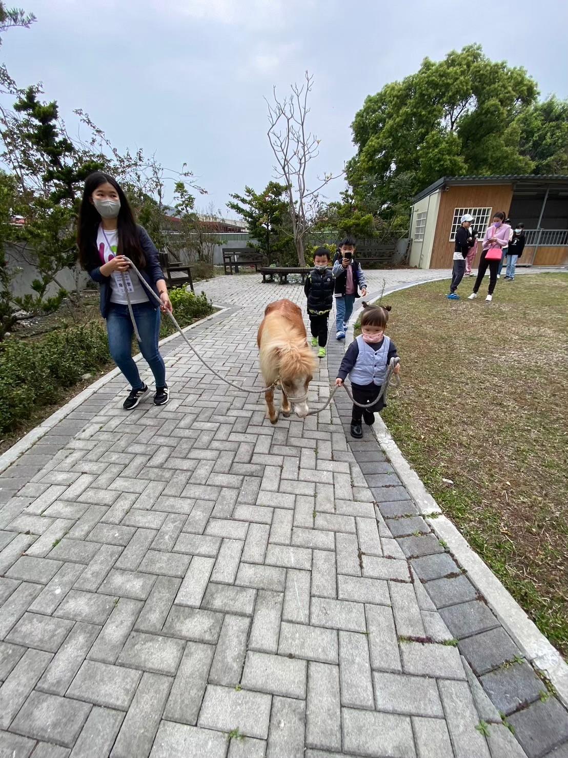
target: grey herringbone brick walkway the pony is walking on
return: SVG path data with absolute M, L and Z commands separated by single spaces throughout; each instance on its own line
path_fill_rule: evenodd
M 264 307 L 301 287 L 204 290 L 229 311 L 192 340 L 262 387 Z M 273 427 L 181 340 L 164 352 L 166 408 L 123 412 L 115 379 L 0 480 L 0 756 L 524 756 L 443 644 L 378 446 L 349 446 L 335 406 Z M 312 404 L 328 392 L 323 362 Z

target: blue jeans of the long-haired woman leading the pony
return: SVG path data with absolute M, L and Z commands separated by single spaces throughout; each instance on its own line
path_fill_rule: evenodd
M 140 334 L 140 352 L 151 368 L 156 387 L 166 386 L 166 367 L 158 349 L 160 337 L 160 311 L 152 308 L 149 302 L 135 303 L 132 306 L 136 326 Z M 133 390 L 142 389 L 142 379 L 138 366 L 132 357 L 132 337 L 134 327 L 130 321 L 127 305 L 111 303 L 107 316 L 108 347 L 111 356 L 120 371 L 130 382 Z

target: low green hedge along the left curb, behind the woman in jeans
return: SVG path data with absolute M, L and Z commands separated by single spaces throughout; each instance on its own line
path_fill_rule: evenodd
M 171 290 L 181 327 L 213 312 L 205 293 Z M 162 317 L 161 337 L 175 331 Z M 135 342 L 135 352 L 138 352 Z M 0 432 L 10 431 L 34 409 L 61 399 L 61 388 L 72 387 L 88 371 L 98 371 L 111 359 L 103 321 L 61 328 L 38 340 L 11 337 L 0 343 Z

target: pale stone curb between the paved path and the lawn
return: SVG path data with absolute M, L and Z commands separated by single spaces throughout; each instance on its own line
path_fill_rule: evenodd
M 390 290 L 385 290 L 383 296 L 391 295 L 399 290 L 406 290 L 409 287 L 417 287 L 429 281 L 439 281 L 448 278 L 438 277 L 436 279 L 405 284 L 401 287 L 393 287 Z M 348 334 L 346 335 L 345 346 L 354 339 L 354 324 L 357 322 L 362 311 L 363 308 L 361 307 L 354 312 L 352 325 L 350 324 Z M 545 673 L 556 690 L 559 700 L 564 706 L 568 707 L 568 664 L 564 662 L 563 657 L 548 641 L 547 637 L 529 619 L 529 616 L 517 603 L 517 600 L 514 600 L 513 596 L 505 589 L 485 561 L 472 550 L 457 527 L 449 518 L 442 514 L 442 509 L 428 490 L 426 490 L 417 472 L 410 467 L 401 449 L 395 443 L 395 440 L 392 439 L 385 422 L 382 421 L 379 415 L 376 418 L 375 435 L 383 453 L 385 453 L 386 458 L 392 464 L 398 478 L 404 484 L 404 487 L 406 487 L 420 514 L 426 518 L 426 522 L 436 537 L 447 543 L 451 555 L 467 570 L 468 578 L 470 578 L 470 581 L 485 598 L 488 606 L 495 613 L 504 629 L 513 637 L 513 641 L 523 651 L 526 659 L 536 669 Z M 435 518 L 428 518 L 429 514 L 434 513 L 436 514 Z

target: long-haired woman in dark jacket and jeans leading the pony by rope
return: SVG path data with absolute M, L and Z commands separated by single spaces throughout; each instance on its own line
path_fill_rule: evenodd
M 158 250 L 146 230 L 134 221 L 132 209 L 117 181 L 101 171 L 90 174 L 85 181 L 77 244 L 81 265 L 100 285 L 101 316 L 107 322 L 111 356 L 132 387 L 123 408 L 133 410 L 148 392 L 132 357 L 134 327 L 126 293 L 140 335 L 140 352 L 156 381 L 154 406 L 165 406 L 170 392 L 164 359 L 158 347 L 160 312 L 171 313 L 173 309 L 158 261 Z M 130 271 L 126 257 L 158 295 L 160 306 L 148 298 L 145 287 Z

